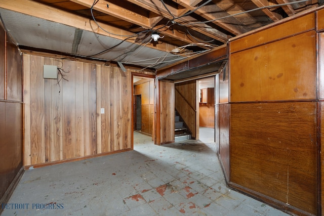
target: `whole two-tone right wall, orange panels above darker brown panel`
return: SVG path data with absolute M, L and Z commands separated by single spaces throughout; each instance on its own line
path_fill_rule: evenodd
M 234 39 L 229 50 L 230 185 L 317 215 L 314 13 Z

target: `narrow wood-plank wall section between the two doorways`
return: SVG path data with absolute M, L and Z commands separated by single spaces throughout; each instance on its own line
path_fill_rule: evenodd
M 174 83 L 158 81 L 159 135 L 157 144 L 174 142 Z

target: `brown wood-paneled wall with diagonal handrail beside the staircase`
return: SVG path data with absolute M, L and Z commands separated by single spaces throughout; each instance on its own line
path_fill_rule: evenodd
M 196 138 L 196 114 L 197 109 L 199 109 L 196 107 L 196 80 L 176 83 L 175 89 L 176 110 L 191 131 L 191 136 Z

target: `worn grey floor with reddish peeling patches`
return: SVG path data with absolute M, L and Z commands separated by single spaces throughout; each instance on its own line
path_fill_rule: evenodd
M 156 146 L 135 132 L 134 151 L 26 170 L 2 216 L 288 215 L 228 189 L 204 133 Z

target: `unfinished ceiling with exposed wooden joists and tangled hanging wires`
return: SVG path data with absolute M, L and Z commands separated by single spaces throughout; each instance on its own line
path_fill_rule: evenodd
M 2 0 L 0 12 L 22 47 L 164 70 L 222 47 L 231 37 L 318 7 L 318 1 Z

